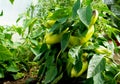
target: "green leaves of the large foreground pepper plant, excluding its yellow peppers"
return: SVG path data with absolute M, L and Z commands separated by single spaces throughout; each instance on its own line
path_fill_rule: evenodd
M 53 32 L 53 35 L 54 34 L 59 35 L 61 32 L 63 32 L 66 29 L 69 30 L 67 31 L 67 33 L 63 34 L 62 37 L 61 36 L 59 37 L 61 38 L 61 40 L 57 44 L 53 43 L 51 45 L 51 44 L 46 44 L 47 42 L 45 43 L 43 42 L 43 45 L 46 45 L 46 47 L 45 48 L 41 47 L 40 50 L 42 50 L 42 53 L 40 52 L 40 54 L 35 57 L 37 59 L 39 58 L 38 60 L 40 61 L 40 64 L 42 63 L 40 65 L 41 68 L 38 73 L 39 82 L 59 83 L 61 81 L 67 80 L 66 77 L 68 79 L 72 79 L 70 76 L 72 67 L 75 67 L 76 72 L 79 72 L 82 69 L 83 67 L 82 64 L 84 62 L 82 62 L 83 58 L 81 57 L 82 54 L 86 52 L 88 55 L 87 57 L 84 57 L 84 60 L 89 62 L 88 70 L 87 73 L 83 73 L 81 76 L 79 76 L 80 78 L 84 79 L 80 81 L 83 82 L 86 80 L 87 82 L 87 80 L 89 81 L 93 80 L 93 83 L 101 83 L 100 81 L 102 81 L 103 83 L 107 82 L 106 81 L 107 74 L 105 73 L 107 72 L 106 67 L 109 65 L 108 60 L 109 61 L 113 60 L 113 54 L 114 54 L 113 46 L 116 45 L 113 43 L 111 46 L 111 44 L 109 44 L 109 39 L 113 40 L 114 42 L 115 38 L 112 35 L 114 34 L 116 36 L 117 32 L 119 32 L 119 30 L 113 27 L 114 24 L 108 21 L 110 18 L 107 19 L 105 18 L 107 17 L 106 16 L 107 13 L 110 13 L 111 15 L 113 15 L 113 13 L 107 8 L 107 6 L 104 3 L 102 3 L 102 1 L 97 4 L 97 1 L 89 1 L 89 2 L 83 1 L 81 3 L 81 1 L 77 0 L 74 3 L 75 4 L 73 5 L 73 8 L 67 6 L 65 7 L 60 6 L 59 9 L 52 11 L 52 16 L 50 18 L 47 17 L 48 20 L 50 19 L 56 21 L 55 23 L 53 23 L 50 29 L 47 29 L 49 32 Z M 95 34 L 87 43 L 83 45 L 79 45 L 78 46 L 79 48 L 77 49 L 74 46 L 69 46 L 69 39 L 71 35 L 82 36 L 85 34 L 86 26 L 89 25 L 91 19 L 91 15 L 90 15 L 91 10 L 93 9 L 97 9 L 99 11 L 99 18 L 95 24 Z M 80 10 L 80 12 L 77 13 L 77 10 Z M 69 11 L 69 12 L 65 12 L 65 11 Z M 59 15 L 61 13 L 64 14 Z M 88 16 L 87 14 L 90 16 Z M 80 18 L 78 17 L 78 15 Z M 89 20 L 87 20 L 86 18 Z M 81 35 L 82 32 L 84 33 Z M 107 35 L 108 37 L 104 37 L 105 35 Z M 49 38 L 52 39 L 53 37 L 50 36 Z M 56 48 L 56 46 L 58 47 Z M 98 52 L 96 51 L 96 49 L 98 49 L 99 46 L 102 47 L 100 47 Z M 46 57 L 49 59 L 46 59 Z M 47 65 L 48 63 L 49 66 Z M 114 64 L 114 62 L 111 61 L 110 64 Z M 44 74 L 47 74 L 47 72 L 49 72 L 50 69 L 51 69 L 50 73 L 52 73 L 52 71 L 54 70 L 52 70 L 52 68 L 50 67 L 53 65 L 55 68 L 57 68 L 57 72 L 53 73 L 54 78 L 52 78 L 52 80 L 50 79 L 49 82 L 46 81 L 46 79 L 42 79 L 44 78 L 44 76 L 45 78 L 51 76 L 51 74 L 49 75 L 44 75 Z M 119 73 L 119 69 L 117 67 L 116 70 L 118 71 L 114 73 L 114 76 L 115 74 Z M 108 81 L 110 80 L 111 79 L 109 79 Z

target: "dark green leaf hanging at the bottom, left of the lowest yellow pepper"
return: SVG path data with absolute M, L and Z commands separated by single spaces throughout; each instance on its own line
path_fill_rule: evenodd
M 57 68 L 56 66 L 50 66 L 45 74 L 45 80 L 43 81 L 45 84 L 50 83 L 54 80 L 57 75 Z

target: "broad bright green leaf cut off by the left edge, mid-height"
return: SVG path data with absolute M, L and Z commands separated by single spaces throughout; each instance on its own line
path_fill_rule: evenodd
M 0 45 L 0 61 L 8 61 L 12 59 L 12 53 L 4 47 L 3 45 Z

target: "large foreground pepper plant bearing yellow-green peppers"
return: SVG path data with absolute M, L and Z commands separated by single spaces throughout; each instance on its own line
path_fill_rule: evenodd
M 46 34 L 34 58 L 40 65 L 40 83 L 74 83 L 74 80 L 83 84 L 119 82 L 119 65 L 113 59 L 116 43 L 112 37 L 119 30 L 105 18 L 106 13 L 112 15 L 112 12 L 102 1 L 97 2 L 77 0 L 71 7 L 59 6 L 47 17 L 49 26 L 43 25 Z M 91 17 L 95 9 L 99 12 L 94 24 L 95 32 L 87 42 L 80 44 L 79 37 L 84 37 L 89 31 L 87 27 L 94 20 Z M 71 40 L 72 35 L 76 36 L 74 40 Z

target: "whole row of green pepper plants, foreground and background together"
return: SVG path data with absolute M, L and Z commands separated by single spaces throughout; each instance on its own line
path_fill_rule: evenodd
M 119 21 L 103 0 L 44 0 L 20 15 L 23 26 L 1 27 L 0 78 L 38 66 L 40 84 L 117 84 Z M 11 29 L 12 28 L 12 29 Z M 21 36 L 14 42 L 14 33 Z M 31 80 L 32 81 L 32 80 Z

